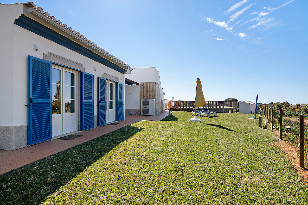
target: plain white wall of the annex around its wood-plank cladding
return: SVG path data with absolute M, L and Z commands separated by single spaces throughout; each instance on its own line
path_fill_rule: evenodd
M 140 109 L 140 83 L 157 82 L 160 87 L 161 100 L 164 101 L 164 90 L 161 87 L 159 71 L 156 68 L 133 68 L 132 73 L 125 75 L 132 81 L 138 82 L 137 85 L 125 85 L 125 108 Z M 129 94 L 132 93 L 132 94 Z

